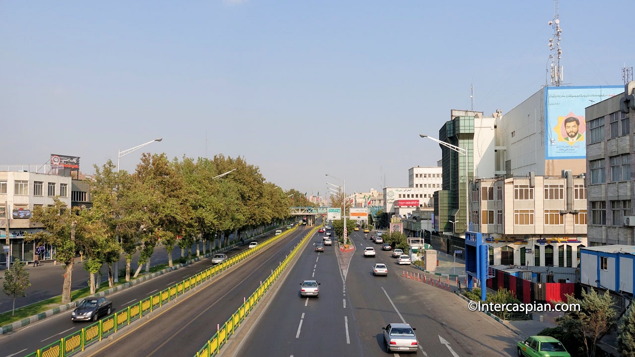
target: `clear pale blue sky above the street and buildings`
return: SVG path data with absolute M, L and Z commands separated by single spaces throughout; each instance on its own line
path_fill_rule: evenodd
M 632 1 L 560 1 L 565 83 L 623 84 Z M 451 109 L 545 84 L 554 3 L 0 1 L 0 164 L 243 156 L 309 194 L 408 185 Z M 337 184 L 337 181 L 330 182 Z

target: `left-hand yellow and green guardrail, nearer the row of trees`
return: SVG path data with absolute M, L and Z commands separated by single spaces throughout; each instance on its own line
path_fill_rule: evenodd
M 89 344 L 100 341 L 113 333 L 117 333 L 117 331 L 121 328 L 130 325 L 132 321 L 139 320 L 142 316 L 151 313 L 154 309 L 163 306 L 166 302 L 176 299 L 178 296 L 191 290 L 195 286 L 210 280 L 214 276 L 217 276 L 223 271 L 234 266 L 234 264 L 237 264 L 241 260 L 250 257 L 272 243 L 275 243 L 280 238 L 283 238 L 290 232 L 295 231 L 297 227 L 298 226 L 294 226 L 291 229 L 287 229 L 281 234 L 267 239 L 263 243 L 258 243 L 255 248 L 245 250 L 244 252 L 234 255 L 234 257 L 231 257 L 220 264 L 208 267 L 208 269 L 194 274 L 180 283 L 176 283 L 175 285 L 168 287 L 166 290 L 150 295 L 150 297 L 147 297 L 136 304 L 130 305 L 117 313 L 106 316 L 102 320 L 99 320 L 88 327 L 84 327 L 79 331 L 70 333 L 70 335 L 53 342 L 46 347 L 38 349 L 33 353 L 27 354 L 25 357 L 67 357 L 84 351 L 84 348 Z M 287 259 L 285 259 L 285 261 L 287 261 Z M 279 269 L 279 267 L 277 269 Z M 248 302 L 250 301 L 251 298 Z

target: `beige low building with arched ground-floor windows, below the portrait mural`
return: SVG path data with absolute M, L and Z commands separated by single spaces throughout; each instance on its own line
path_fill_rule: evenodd
M 498 177 L 471 185 L 472 231 L 490 265 L 577 267 L 587 246 L 584 175 Z

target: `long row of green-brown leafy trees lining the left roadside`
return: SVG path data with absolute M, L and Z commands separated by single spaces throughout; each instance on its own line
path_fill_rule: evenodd
M 297 205 L 309 205 L 295 192 Z M 121 252 L 126 257 L 126 281 L 130 281 L 136 252 L 140 254 L 133 277 L 144 265 L 149 269 L 159 241 L 166 247 L 172 266 L 177 245 L 182 255 L 200 241 L 203 246 L 209 241 L 215 248 L 216 237 L 222 238 L 220 245 L 227 245 L 231 233 L 236 238 L 241 232 L 288 218 L 288 196 L 266 182 L 257 166 L 240 157 L 170 161 L 165 154 L 143 154 L 134 173 L 117 172 L 110 160 L 101 168 L 95 165 L 90 210 L 69 209 L 58 199 L 54 206 L 36 207 L 32 220 L 43 224 L 45 230 L 29 234 L 27 240 L 55 246 L 54 259 L 65 267 L 62 303 L 67 303 L 77 252 L 84 254 L 94 293 L 95 274 L 104 264 L 108 266 L 109 285 L 114 285 L 113 274 L 118 272 L 113 273 L 111 266 L 119 261 Z

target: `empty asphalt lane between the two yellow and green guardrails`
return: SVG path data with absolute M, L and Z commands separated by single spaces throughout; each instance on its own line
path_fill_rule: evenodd
M 140 326 L 122 331 L 114 343 L 91 346 L 85 356 L 195 356 L 231 314 L 279 266 L 309 231 L 300 227 L 210 284 L 184 295 L 180 303 Z

